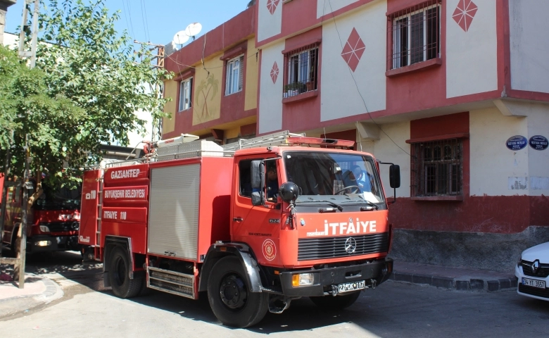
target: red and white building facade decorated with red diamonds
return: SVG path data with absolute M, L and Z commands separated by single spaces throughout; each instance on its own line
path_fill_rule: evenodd
M 258 51 L 255 134 L 356 141 L 400 165 L 396 258 L 507 271 L 549 240 L 545 10 L 544 0 L 258 0 L 247 42 Z M 225 116 L 181 130 L 244 117 Z

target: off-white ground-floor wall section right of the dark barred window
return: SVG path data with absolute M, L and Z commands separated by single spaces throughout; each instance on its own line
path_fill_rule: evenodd
M 496 108 L 469 112 L 470 194 L 473 196 L 526 195 L 526 189 L 512 189 L 527 182 L 529 147 L 511 151 L 505 146 L 509 137 L 528 137 L 524 117 L 505 116 Z M 510 183 L 510 177 L 513 177 Z M 517 182 L 517 184 L 515 184 Z M 519 184 L 520 183 L 520 184 Z

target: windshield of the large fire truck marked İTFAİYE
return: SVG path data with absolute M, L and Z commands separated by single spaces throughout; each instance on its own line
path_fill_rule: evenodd
M 286 178 L 300 188 L 296 203 L 324 200 L 337 204 L 384 202 L 379 175 L 370 156 L 286 151 L 283 157 Z

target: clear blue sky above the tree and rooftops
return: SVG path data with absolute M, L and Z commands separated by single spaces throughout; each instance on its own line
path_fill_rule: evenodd
M 48 0 L 45 0 L 46 4 Z M 116 30 L 127 30 L 132 39 L 153 44 L 168 44 L 176 32 L 190 23 L 200 23 L 196 36 L 225 23 L 244 11 L 249 0 L 103 0 L 110 11 L 121 11 Z M 6 32 L 18 34 L 23 3 L 8 8 Z M 61 1 L 60 1 L 61 2 Z M 145 8 L 145 9 L 144 9 Z M 189 42 L 187 42 L 189 43 Z

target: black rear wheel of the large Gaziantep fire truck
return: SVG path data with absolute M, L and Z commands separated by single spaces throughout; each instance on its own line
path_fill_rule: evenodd
M 108 278 L 111 281 L 113 294 L 120 298 L 137 296 L 141 291 L 143 276 L 135 273 L 134 278 L 130 279 L 132 264 L 127 252 L 120 246 L 116 246 L 108 261 Z

